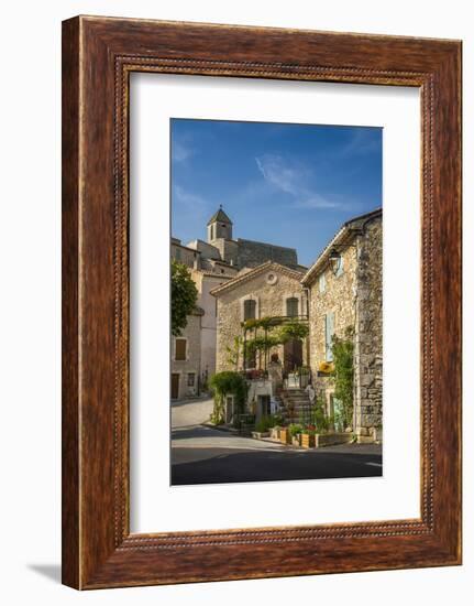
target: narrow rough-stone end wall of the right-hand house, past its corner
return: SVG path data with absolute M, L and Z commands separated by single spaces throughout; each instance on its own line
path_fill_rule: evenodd
M 383 391 L 383 252 L 382 218 L 357 237 L 355 315 L 355 430 L 361 442 L 372 441 L 382 426 Z

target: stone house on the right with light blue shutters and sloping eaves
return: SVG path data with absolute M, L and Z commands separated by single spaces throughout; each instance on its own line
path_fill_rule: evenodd
M 309 291 L 310 367 L 327 414 L 338 413 L 332 337 L 353 329 L 354 415 L 359 441 L 379 439 L 382 428 L 382 209 L 346 221 L 306 272 Z

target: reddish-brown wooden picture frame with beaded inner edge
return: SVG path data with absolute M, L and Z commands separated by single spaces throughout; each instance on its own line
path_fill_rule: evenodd
M 131 534 L 131 72 L 419 87 L 420 519 Z M 461 42 L 77 17 L 63 23 L 63 583 L 461 563 Z

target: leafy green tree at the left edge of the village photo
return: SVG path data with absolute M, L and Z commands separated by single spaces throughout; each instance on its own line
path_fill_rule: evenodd
M 188 268 L 172 260 L 172 334 L 178 337 L 186 328 L 188 315 L 198 300 L 198 290 Z

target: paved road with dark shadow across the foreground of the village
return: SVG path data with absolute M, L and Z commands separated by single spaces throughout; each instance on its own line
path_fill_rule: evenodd
M 302 451 L 202 426 L 211 400 L 172 408 L 172 484 L 220 484 L 382 475 L 382 448 L 343 444 Z

